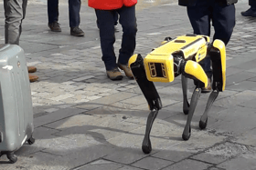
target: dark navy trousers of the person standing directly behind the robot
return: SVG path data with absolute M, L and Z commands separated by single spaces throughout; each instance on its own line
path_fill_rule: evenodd
M 227 45 L 235 26 L 235 5 L 219 5 L 215 0 L 200 0 L 196 6 L 187 7 L 187 15 L 194 29 L 194 34 L 210 35 L 210 21 L 214 27 L 213 41 L 219 39 Z M 210 78 L 210 58 L 202 64 Z

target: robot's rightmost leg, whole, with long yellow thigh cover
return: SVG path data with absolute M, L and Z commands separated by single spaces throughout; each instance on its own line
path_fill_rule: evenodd
M 208 103 L 204 114 L 201 116 L 199 127 L 205 129 L 208 125 L 208 111 L 218 97 L 219 92 L 224 91 L 226 85 L 226 49 L 225 45 L 220 40 L 215 40 L 209 51 L 209 56 L 212 61 L 213 83 L 212 93 L 208 97 Z

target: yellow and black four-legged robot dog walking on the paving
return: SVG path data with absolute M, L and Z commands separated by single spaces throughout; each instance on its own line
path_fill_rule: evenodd
M 199 127 L 206 128 L 208 124 L 208 111 L 226 85 L 226 49 L 220 40 L 209 43 L 205 35 L 182 35 L 175 39 L 165 38 L 163 45 L 156 48 L 143 58 L 133 55 L 129 60 L 133 76 L 140 86 L 149 105 L 150 114 L 147 117 L 143 152 L 149 154 L 152 150 L 150 131 L 158 111 L 162 108 L 161 99 L 153 82 L 172 82 L 175 77 L 182 75 L 183 112 L 187 115 L 182 138 L 188 140 L 191 135 L 191 120 L 201 94 L 201 88 L 208 85 L 208 76 L 198 63 L 206 57 L 212 62 L 213 91 L 208 97 L 204 114 L 201 116 Z M 194 80 L 196 88 L 191 97 L 190 105 L 187 101 L 187 78 Z

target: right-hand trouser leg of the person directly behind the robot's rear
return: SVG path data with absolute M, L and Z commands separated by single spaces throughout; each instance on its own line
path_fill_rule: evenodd
M 212 25 L 215 34 L 213 39 L 219 39 L 228 45 L 236 25 L 235 5 L 215 5 L 213 8 Z

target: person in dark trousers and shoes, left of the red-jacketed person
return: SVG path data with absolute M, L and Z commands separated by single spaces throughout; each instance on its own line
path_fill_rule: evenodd
M 69 0 L 70 35 L 83 36 L 80 29 L 80 0 Z M 53 32 L 61 32 L 59 26 L 59 0 L 48 0 L 48 27 Z

